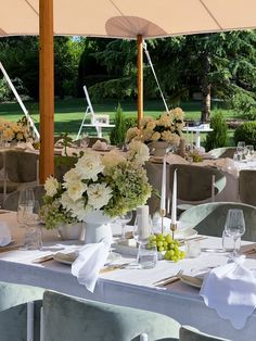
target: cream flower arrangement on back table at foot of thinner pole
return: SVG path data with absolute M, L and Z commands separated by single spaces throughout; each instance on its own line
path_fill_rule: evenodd
M 170 144 L 179 144 L 184 114 L 180 108 L 163 113 L 158 119 L 145 117 L 141 122 L 141 128 L 127 130 L 126 141 L 139 140 L 142 142 L 166 141 Z

